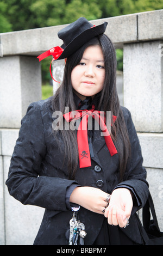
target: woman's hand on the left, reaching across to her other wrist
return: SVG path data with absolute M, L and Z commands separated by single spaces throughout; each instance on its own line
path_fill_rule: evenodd
M 107 193 L 96 187 L 76 187 L 71 193 L 70 202 L 104 215 L 103 210 L 108 204 L 105 201 L 107 196 Z

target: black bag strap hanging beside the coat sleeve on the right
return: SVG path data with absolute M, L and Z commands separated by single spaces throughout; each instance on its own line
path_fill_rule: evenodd
M 149 192 L 147 202 L 142 209 L 142 222 L 143 222 L 143 227 L 145 228 L 145 230 L 148 230 L 149 223 L 151 220 L 150 209 L 151 209 L 151 213 L 153 216 L 153 221 L 154 221 L 155 227 L 158 229 L 158 231 L 160 231 L 159 225 L 158 225 L 158 220 L 157 220 L 155 209 L 154 209 L 153 199 L 152 199 L 151 193 Z

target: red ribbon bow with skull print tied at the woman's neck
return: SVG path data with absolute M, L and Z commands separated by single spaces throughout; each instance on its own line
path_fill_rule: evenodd
M 91 166 L 91 157 L 90 157 L 90 150 L 89 150 L 89 143 L 87 140 L 87 123 L 89 116 L 92 116 L 100 125 L 101 130 L 104 133 L 105 143 L 109 149 L 110 155 L 113 156 L 117 154 L 117 150 L 115 148 L 115 145 L 111 139 L 111 136 L 109 134 L 109 131 L 105 125 L 105 120 L 101 115 L 101 111 L 95 111 L 95 106 L 92 105 L 92 108 L 87 110 L 76 110 L 76 117 L 72 117 L 73 112 L 68 112 L 64 114 L 64 118 L 67 122 L 77 119 L 80 119 L 82 117 L 82 120 L 80 121 L 78 132 L 77 132 L 77 142 L 78 142 L 78 154 L 79 154 L 79 166 L 80 168 L 85 168 Z M 116 116 L 112 116 L 112 120 L 115 122 Z M 84 129 L 82 129 L 84 127 Z

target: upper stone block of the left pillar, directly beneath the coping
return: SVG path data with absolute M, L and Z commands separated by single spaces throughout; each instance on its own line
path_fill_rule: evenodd
M 19 128 L 27 107 L 41 99 L 41 66 L 36 57 L 0 58 L 0 127 Z

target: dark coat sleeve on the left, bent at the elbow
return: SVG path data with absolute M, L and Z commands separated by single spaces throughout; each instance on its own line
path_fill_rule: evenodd
M 39 103 L 32 103 L 21 121 L 6 185 L 10 195 L 22 204 L 67 211 L 66 190 L 77 182 L 39 175 L 45 155 L 46 143 L 41 109 Z

